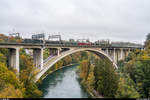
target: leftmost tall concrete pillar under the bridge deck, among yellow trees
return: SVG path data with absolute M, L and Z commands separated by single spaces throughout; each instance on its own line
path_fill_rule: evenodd
M 11 48 L 9 56 L 9 66 L 13 67 L 19 73 L 19 48 Z

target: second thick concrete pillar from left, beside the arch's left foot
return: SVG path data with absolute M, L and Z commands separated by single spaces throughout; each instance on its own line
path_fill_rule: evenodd
M 43 48 L 33 49 L 33 62 L 39 69 L 43 69 Z

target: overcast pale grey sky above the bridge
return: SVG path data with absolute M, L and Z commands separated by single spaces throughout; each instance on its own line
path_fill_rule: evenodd
M 0 33 L 142 43 L 150 0 L 0 0 Z

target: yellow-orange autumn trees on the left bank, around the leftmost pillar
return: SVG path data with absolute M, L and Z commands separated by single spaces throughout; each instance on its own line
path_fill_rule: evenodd
M 0 98 L 40 97 L 42 92 L 34 83 L 38 70 L 33 66 L 32 58 L 20 50 L 20 76 L 6 67 L 8 57 L 7 49 L 0 49 Z M 20 79 L 20 80 L 19 80 Z

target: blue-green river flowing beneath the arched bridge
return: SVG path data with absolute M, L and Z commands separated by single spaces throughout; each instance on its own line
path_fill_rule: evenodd
M 43 98 L 88 98 L 77 80 L 77 65 L 64 67 L 49 74 L 39 86 Z

